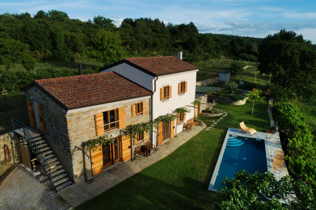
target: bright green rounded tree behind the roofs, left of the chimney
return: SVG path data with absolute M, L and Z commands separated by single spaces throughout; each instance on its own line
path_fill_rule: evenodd
M 109 65 L 123 59 L 126 54 L 121 46 L 122 40 L 117 32 L 101 29 L 92 39 L 91 57 Z

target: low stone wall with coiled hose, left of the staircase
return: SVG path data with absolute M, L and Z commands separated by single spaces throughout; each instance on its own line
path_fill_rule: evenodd
M 4 157 L 4 144 L 10 149 L 11 160 L 7 162 Z M 0 135 L 0 176 L 21 161 L 18 136 L 14 131 Z

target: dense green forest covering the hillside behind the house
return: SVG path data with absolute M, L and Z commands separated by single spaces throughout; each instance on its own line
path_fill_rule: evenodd
M 126 18 L 119 27 L 101 15 L 70 19 L 67 13 L 40 10 L 0 15 L 0 64 L 20 63 L 32 69 L 36 60 L 75 61 L 92 58 L 105 65 L 131 56 L 162 56 L 184 52 L 189 62 L 219 56 L 256 61 L 261 38 L 199 33 L 189 24 L 159 19 Z

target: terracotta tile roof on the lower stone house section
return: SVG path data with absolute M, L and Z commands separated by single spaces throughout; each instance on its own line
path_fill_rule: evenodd
M 149 96 L 151 92 L 114 72 L 35 80 L 66 109 Z

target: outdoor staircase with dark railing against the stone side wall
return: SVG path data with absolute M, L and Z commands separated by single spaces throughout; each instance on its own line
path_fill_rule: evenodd
M 53 150 L 50 148 L 42 132 L 32 132 L 32 127 L 25 127 L 24 123 L 11 117 L 13 130 L 23 137 L 23 143 L 32 150 L 42 170 L 50 180 L 53 188 L 59 190 L 72 184 L 63 166 L 58 161 Z

